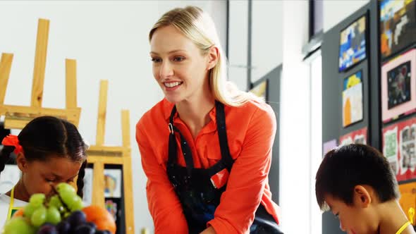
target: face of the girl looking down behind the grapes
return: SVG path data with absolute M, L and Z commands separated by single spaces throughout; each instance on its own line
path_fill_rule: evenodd
M 19 165 L 21 180 L 29 195 L 44 193 L 48 197 L 53 195 L 50 183 L 74 183 L 81 164 L 59 156 L 51 156 L 47 161 L 24 161 Z

